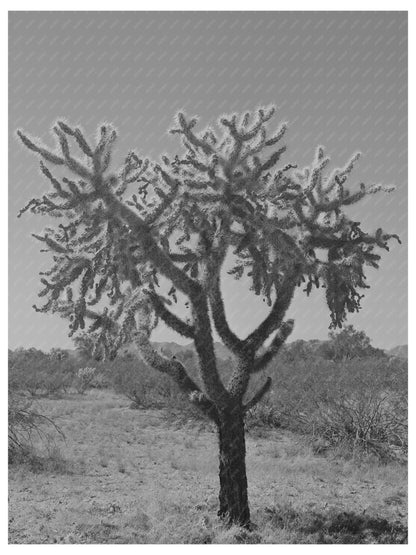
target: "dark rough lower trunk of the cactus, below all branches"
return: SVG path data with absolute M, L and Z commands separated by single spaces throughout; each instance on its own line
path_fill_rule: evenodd
M 249 526 L 246 444 L 242 408 L 223 412 L 218 421 L 220 447 L 220 509 L 229 524 Z

